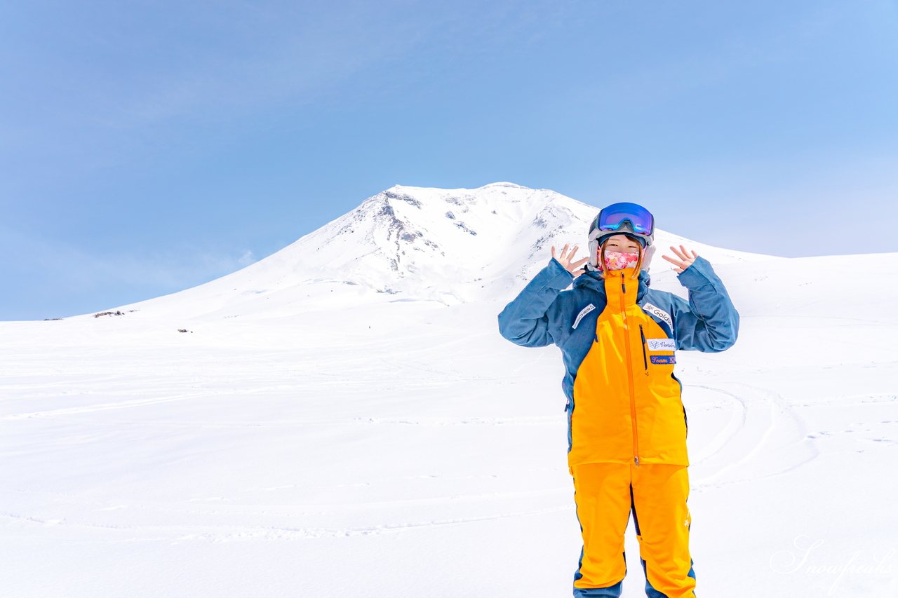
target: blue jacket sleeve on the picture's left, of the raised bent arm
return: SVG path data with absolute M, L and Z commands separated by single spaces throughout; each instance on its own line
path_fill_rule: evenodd
M 574 280 L 567 268 L 552 258 L 515 300 L 499 314 L 499 333 L 521 347 L 545 347 L 554 342 L 546 312 L 559 293 Z

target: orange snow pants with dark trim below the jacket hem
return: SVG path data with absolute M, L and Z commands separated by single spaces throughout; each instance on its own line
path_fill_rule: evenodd
M 583 553 L 574 595 L 620 596 L 624 532 L 633 513 L 651 598 L 695 598 L 689 554 L 689 474 L 665 463 L 584 463 L 571 468 Z

